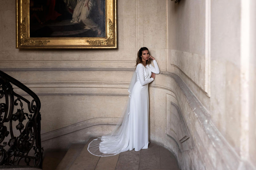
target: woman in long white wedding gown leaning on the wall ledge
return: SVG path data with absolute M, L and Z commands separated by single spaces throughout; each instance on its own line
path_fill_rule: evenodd
M 153 60 L 153 67 L 149 60 Z M 138 51 L 136 69 L 129 86 L 129 100 L 120 126 L 112 133 L 94 139 L 88 151 L 96 156 L 111 156 L 120 152 L 148 148 L 148 84 L 160 70 L 148 48 Z

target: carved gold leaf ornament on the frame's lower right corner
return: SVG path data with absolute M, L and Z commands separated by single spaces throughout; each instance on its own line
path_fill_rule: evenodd
M 93 46 L 113 46 L 114 45 L 114 26 L 111 19 L 108 19 L 108 25 L 109 25 L 109 36 L 107 40 L 94 40 L 94 41 L 87 40 L 87 42 Z

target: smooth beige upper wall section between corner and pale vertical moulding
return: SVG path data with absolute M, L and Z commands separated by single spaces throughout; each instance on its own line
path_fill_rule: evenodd
M 198 5 L 200 4 L 200 5 Z M 168 47 L 204 55 L 205 0 L 168 1 Z

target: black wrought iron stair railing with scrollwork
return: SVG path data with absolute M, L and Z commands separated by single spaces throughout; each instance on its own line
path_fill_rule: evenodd
M 42 168 L 40 107 L 34 92 L 0 70 L 0 168 Z

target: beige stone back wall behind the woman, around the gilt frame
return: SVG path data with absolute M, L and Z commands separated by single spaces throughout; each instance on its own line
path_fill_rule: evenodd
M 45 150 L 111 131 L 104 124 L 122 117 L 140 47 L 166 71 L 165 1 L 118 1 L 117 49 L 16 49 L 15 1 L 2 4 L 0 68 L 39 96 Z

